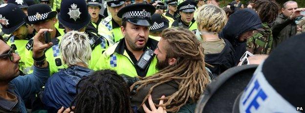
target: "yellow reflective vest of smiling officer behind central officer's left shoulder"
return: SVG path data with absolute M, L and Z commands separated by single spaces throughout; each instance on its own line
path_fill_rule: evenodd
M 109 40 L 112 40 L 113 43 L 120 41 L 120 39 L 124 38 L 121 32 L 121 26 L 117 24 L 109 15 L 101 22 L 102 24 L 98 25 L 98 34 L 102 36 L 108 36 Z M 111 42 L 110 42 L 111 43 Z

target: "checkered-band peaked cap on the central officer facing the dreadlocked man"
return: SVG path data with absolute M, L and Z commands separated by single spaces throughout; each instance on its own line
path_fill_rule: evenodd
M 123 7 L 118 12 L 118 17 L 123 21 L 127 20 L 133 24 L 140 26 L 152 25 L 152 14 L 155 12 L 155 8 L 148 3 L 135 3 Z

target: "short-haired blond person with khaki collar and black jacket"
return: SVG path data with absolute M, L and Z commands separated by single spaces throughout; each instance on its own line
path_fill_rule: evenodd
M 218 37 L 227 22 L 227 16 L 223 9 L 212 4 L 201 6 L 198 11 L 196 37 L 204 48 L 205 62 L 212 65 L 207 67 L 217 76 L 235 66 L 232 45 Z

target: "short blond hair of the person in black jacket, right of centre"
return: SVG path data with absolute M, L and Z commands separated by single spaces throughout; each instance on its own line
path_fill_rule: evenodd
M 198 10 L 197 25 L 202 25 L 209 32 L 220 32 L 227 22 L 226 13 L 216 5 L 202 5 Z

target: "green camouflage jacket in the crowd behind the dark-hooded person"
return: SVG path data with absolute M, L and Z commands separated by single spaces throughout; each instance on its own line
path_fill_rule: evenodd
M 258 31 L 247 39 L 247 51 L 253 54 L 269 54 L 272 47 L 272 30 L 268 23 L 262 23 L 265 31 Z

